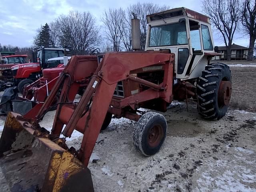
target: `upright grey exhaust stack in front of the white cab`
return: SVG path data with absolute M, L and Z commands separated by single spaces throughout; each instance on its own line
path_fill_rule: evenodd
M 140 50 L 140 20 L 137 18 L 137 14 L 132 13 L 134 18 L 132 22 L 132 50 Z

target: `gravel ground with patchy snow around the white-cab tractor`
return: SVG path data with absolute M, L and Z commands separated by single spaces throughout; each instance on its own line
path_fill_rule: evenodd
M 160 152 L 138 153 L 132 143 L 136 122 L 112 119 L 100 133 L 89 168 L 95 192 L 255 192 L 256 113 L 255 67 L 231 67 L 232 103 L 246 101 L 248 111 L 234 104 L 224 118 L 203 120 L 196 105 L 173 102 L 166 113 L 168 134 Z M 250 108 L 252 107 L 252 108 Z M 50 130 L 54 112 L 41 126 Z M 0 117 L 0 134 L 6 117 Z M 75 132 L 68 146 L 79 148 L 82 134 Z M 0 186 L 8 191 L 0 171 Z

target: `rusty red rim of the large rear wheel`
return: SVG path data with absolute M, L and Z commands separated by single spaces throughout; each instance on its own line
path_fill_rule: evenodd
M 232 85 L 230 81 L 221 81 L 218 90 L 218 106 L 228 106 L 231 98 Z

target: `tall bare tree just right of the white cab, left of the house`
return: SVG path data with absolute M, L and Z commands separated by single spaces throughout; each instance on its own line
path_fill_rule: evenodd
M 231 45 L 240 21 L 239 0 L 204 0 L 203 11 L 220 31 L 227 48 L 227 60 L 231 58 Z

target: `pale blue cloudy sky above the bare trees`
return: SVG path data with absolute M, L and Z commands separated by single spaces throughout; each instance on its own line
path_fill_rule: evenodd
M 202 12 L 201 0 L 1 0 L 0 2 L 0 43 L 12 46 L 32 46 L 36 30 L 46 22 L 50 23 L 70 10 L 89 11 L 98 25 L 105 9 L 126 8 L 137 2 L 153 2 L 170 8 L 186 7 Z M 242 32 L 236 34 L 233 43 L 248 47 L 249 38 Z M 215 46 L 224 46 L 218 32 L 214 32 Z

